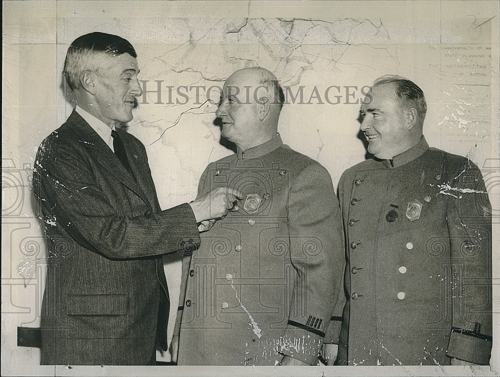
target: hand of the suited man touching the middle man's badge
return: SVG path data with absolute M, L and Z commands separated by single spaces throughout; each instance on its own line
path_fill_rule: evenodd
M 236 198 L 243 194 L 234 188 L 219 187 L 189 203 L 196 222 L 224 217 L 228 210 L 237 210 Z

